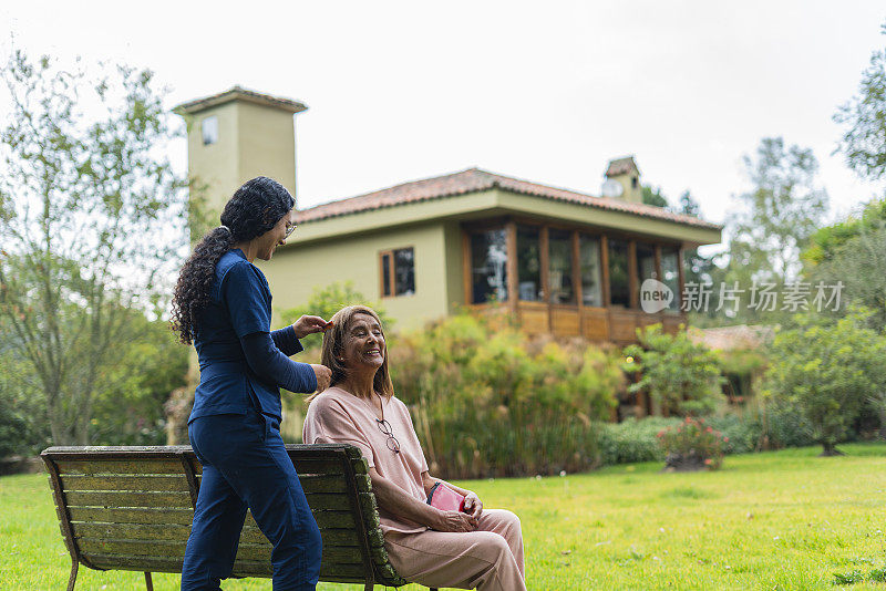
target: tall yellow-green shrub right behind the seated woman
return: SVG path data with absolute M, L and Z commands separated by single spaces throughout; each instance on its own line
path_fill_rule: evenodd
M 536 342 L 457 314 L 389 349 L 432 470 L 450 478 L 579 471 L 624 381 L 611 351 Z

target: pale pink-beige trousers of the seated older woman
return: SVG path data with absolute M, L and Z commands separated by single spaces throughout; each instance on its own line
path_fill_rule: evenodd
M 425 587 L 524 591 L 523 532 L 511 511 L 484 509 L 463 533 L 389 531 L 384 547 L 396 572 Z

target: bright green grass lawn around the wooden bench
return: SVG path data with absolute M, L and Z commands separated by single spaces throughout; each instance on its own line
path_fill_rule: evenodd
M 884 589 L 886 445 L 841 448 L 846 456 L 818 458 L 818 448 L 731 456 L 715 473 L 635 464 L 460 484 L 519 515 L 532 590 Z M 69 569 L 45 476 L 0 478 L 0 588 L 64 589 Z M 177 576 L 154 581 L 158 591 L 178 589 Z M 224 587 L 270 589 L 270 581 Z M 144 583 L 141 573 L 81 568 L 78 589 Z

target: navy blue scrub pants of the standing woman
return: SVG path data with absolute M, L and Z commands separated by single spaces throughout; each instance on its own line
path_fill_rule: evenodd
M 322 542 L 276 419 L 250 412 L 195 418 L 188 438 L 203 464 L 182 591 L 230 577 L 247 507 L 274 545 L 274 589 L 313 590 Z

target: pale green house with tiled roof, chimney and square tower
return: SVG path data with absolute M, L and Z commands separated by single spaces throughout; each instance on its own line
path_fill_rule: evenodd
M 296 195 L 293 117 L 307 107 L 240 87 L 177 107 L 188 122 L 189 174 L 220 209 L 266 175 Z M 352 281 L 400 328 L 466 307 L 504 310 L 533 333 L 631 342 L 638 326 L 677 330 L 682 252 L 722 227 L 642 204 L 632 157 L 612 160 L 606 196 L 470 168 L 299 209 L 295 239 L 260 262 L 276 309 Z M 641 307 L 657 279 L 673 294 Z

